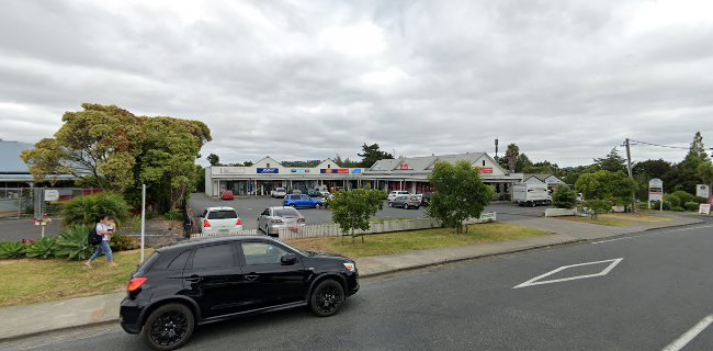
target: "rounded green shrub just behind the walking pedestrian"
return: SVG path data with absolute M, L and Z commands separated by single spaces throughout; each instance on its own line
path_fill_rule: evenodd
M 121 194 L 102 192 L 72 199 L 63 210 L 65 226 L 93 225 L 102 214 L 116 217 L 118 222 L 128 216 L 128 204 Z

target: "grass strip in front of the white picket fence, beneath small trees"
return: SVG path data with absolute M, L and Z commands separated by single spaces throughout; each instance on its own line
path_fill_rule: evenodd
M 352 244 L 350 237 L 343 238 L 310 238 L 291 240 L 288 244 L 310 251 L 340 253 L 352 259 L 370 256 L 400 253 L 412 250 L 425 250 L 464 245 L 506 241 L 548 235 L 546 231 L 523 228 L 519 226 L 490 223 L 468 226 L 467 234 L 455 234 L 454 229 L 435 228 L 426 230 L 400 231 L 369 235 L 356 238 Z

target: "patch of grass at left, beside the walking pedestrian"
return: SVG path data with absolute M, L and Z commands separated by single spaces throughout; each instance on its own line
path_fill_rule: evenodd
M 147 252 L 147 257 L 150 251 Z M 0 261 L 0 306 L 25 305 L 56 299 L 122 292 L 136 270 L 140 251 L 114 252 L 116 268 L 104 257 L 93 269 L 83 261 L 2 260 Z

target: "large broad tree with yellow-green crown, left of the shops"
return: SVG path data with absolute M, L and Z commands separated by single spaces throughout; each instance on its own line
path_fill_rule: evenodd
M 121 192 L 134 203 L 138 184 L 146 183 L 149 201 L 162 211 L 188 196 L 195 185 L 195 158 L 211 140 L 204 123 L 136 116 L 114 105 L 82 107 L 65 113 L 54 138 L 22 154 L 36 181 L 71 174 L 80 186 Z

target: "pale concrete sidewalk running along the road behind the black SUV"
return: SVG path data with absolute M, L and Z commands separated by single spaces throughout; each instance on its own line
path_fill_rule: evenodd
M 553 233 L 553 235 L 369 257 L 356 260 L 356 267 L 361 278 L 369 278 L 401 270 L 698 223 L 703 223 L 703 220 L 680 216 L 669 222 L 646 223 L 632 227 L 607 227 L 554 218 L 522 219 L 511 222 L 511 224 L 542 229 Z M 124 293 L 118 293 L 0 308 L 0 340 L 92 324 L 118 321 L 118 304 L 123 297 Z

